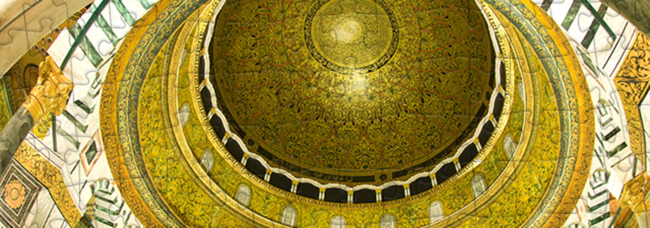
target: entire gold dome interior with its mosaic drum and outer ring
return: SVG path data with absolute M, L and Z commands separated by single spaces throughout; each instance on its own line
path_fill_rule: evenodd
M 398 36 L 397 48 L 357 75 L 324 66 L 307 48 L 304 22 L 320 2 L 309 3 L 161 1 L 124 38 L 115 58 L 129 61 L 113 62 L 107 75 L 101 139 L 120 145 L 105 154 L 140 222 L 420 227 L 484 218 L 489 226 L 539 227 L 566 220 L 588 175 L 593 113 L 577 58 L 556 45 L 565 42 L 562 31 L 543 26 L 551 19 L 534 15 L 536 6 L 385 1 L 398 22 L 389 38 Z M 320 10 L 348 3 L 316 7 L 312 36 Z M 390 21 L 382 3 L 360 3 L 369 8 L 354 10 L 378 12 L 366 19 Z M 417 27 L 417 17 L 441 21 Z M 343 25 L 335 37 L 355 40 L 364 25 Z M 337 34 L 336 25 L 318 26 Z M 426 30 L 435 26 L 442 27 Z M 365 58 L 332 52 L 328 42 L 339 40 L 323 39 L 312 41 L 324 60 Z M 388 50 L 389 40 L 378 47 Z M 356 44 L 349 45 L 339 46 Z M 369 51 L 372 58 L 343 67 L 372 65 L 385 53 Z M 354 183 L 300 172 L 305 167 L 372 176 Z M 534 205 L 513 205 L 523 198 Z

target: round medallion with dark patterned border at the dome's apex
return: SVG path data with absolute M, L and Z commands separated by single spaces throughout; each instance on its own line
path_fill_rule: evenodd
M 307 12 L 304 34 L 314 59 L 342 74 L 379 69 L 399 40 L 395 14 L 382 0 L 318 1 Z

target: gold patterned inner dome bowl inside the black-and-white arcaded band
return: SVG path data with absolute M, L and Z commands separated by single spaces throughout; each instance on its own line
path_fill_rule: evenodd
M 209 49 L 216 104 L 247 149 L 324 183 L 430 169 L 471 137 L 493 89 L 493 47 L 473 1 L 228 1 Z M 348 70 L 389 58 L 348 74 L 314 53 Z

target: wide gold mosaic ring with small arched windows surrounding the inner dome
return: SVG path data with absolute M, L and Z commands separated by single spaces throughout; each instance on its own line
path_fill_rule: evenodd
M 487 10 L 508 13 L 513 10 L 499 8 L 506 4 L 502 1 L 489 3 L 491 5 L 486 6 Z M 162 4 L 168 6 L 169 2 Z M 530 15 L 526 11 L 526 7 L 530 6 L 520 4 L 516 7 Z M 136 212 L 138 220 L 145 224 L 213 225 L 210 222 L 216 219 L 234 221 L 229 225 L 273 226 L 283 221 L 281 212 L 287 205 L 291 205 L 296 211 L 294 225 L 300 227 L 326 227 L 331 225 L 331 218 L 336 216 L 342 216 L 348 225 L 377 225 L 384 214 L 395 216 L 397 224 L 421 227 L 431 224 L 428 218 L 430 204 L 441 201 L 441 211 L 448 217 L 436 220 L 435 225 L 475 226 L 476 223 L 471 218 L 482 218 L 480 224 L 493 226 L 516 225 L 526 220 L 530 220 L 530 224 L 543 225 L 549 221 L 552 223 L 561 220 L 555 215 L 551 218 L 551 214 L 564 212 L 560 205 L 573 207 L 573 193 L 578 192 L 579 196 L 581 190 L 576 186 L 584 186 L 586 178 L 581 179 L 583 175 L 580 170 L 588 170 L 588 165 L 585 165 L 586 159 L 580 153 L 591 152 L 590 146 L 582 142 L 591 140 L 585 138 L 593 134 L 593 129 L 590 130 L 593 128 L 593 113 L 585 111 L 586 106 L 582 104 L 590 103 L 586 102 L 589 95 L 576 92 L 584 89 L 584 82 L 581 81 L 584 79 L 581 79 L 579 68 L 564 64 L 570 57 L 542 58 L 569 55 L 570 52 L 563 47 L 549 47 L 549 43 L 562 43 L 562 32 L 546 30 L 545 24 L 539 24 L 539 21 L 526 24 L 525 21 L 534 18 L 519 17 L 516 14 L 507 14 L 507 17 L 501 15 L 499 18 L 500 21 L 518 23 L 516 26 L 510 24 L 503 27 L 508 29 L 508 33 L 503 33 L 500 38 L 504 39 L 507 35 L 513 40 L 499 40 L 499 46 L 515 50 L 513 52 L 517 56 L 507 52 L 504 61 L 521 62 L 508 65 L 506 71 L 510 80 L 513 80 L 512 83 L 523 80 L 526 93 L 526 101 L 523 102 L 519 98 L 512 99 L 518 95 L 514 87 L 504 88 L 504 109 L 512 110 L 512 113 L 504 113 L 509 115 L 509 119 L 499 124 L 503 126 L 502 131 L 513 137 L 521 135 L 515 137 L 518 146 L 512 161 L 508 161 L 508 155 L 502 146 L 503 137 L 500 135 L 506 134 L 497 132 L 499 136 L 492 137 L 484 146 L 484 150 L 490 153 L 476 155 L 480 162 L 470 163 L 448 181 L 431 190 L 395 201 L 341 204 L 312 200 L 273 187 L 260 177 L 252 175 L 239 161 L 227 154 L 222 139 L 216 139 L 209 126 L 205 110 L 197 103 L 200 102 L 198 82 L 193 81 L 198 74 L 198 57 L 203 50 L 197 43 L 201 41 L 205 30 L 194 28 L 192 23 L 196 23 L 199 28 L 207 27 L 206 21 L 209 19 L 187 17 L 187 12 L 180 10 L 181 14 L 178 14 L 172 8 L 187 10 L 192 7 L 165 7 L 157 12 L 157 23 L 152 23 L 153 18 L 145 17 L 151 28 L 136 26 L 132 32 L 141 36 L 131 35 L 125 38 L 124 45 L 116 56 L 129 58 L 129 61 L 113 62 L 102 94 L 103 140 L 105 144 L 120 145 L 107 148 L 109 165 L 116 179 L 122 180 L 118 185 L 125 194 L 129 207 Z M 305 8 L 309 7 L 302 7 Z M 270 10 L 287 9 L 291 8 Z M 179 19 L 165 21 L 170 15 Z M 179 27 L 177 21 L 185 21 L 187 27 L 176 30 Z M 192 28 L 190 34 L 187 31 L 189 28 Z M 541 40 L 541 37 L 546 40 Z M 194 40 L 196 38 L 199 39 Z M 174 45 L 174 57 L 169 62 L 167 58 L 170 57 L 165 56 L 165 53 L 170 52 L 170 49 L 162 48 L 164 43 Z M 179 57 L 186 51 L 187 58 Z M 309 52 L 302 54 L 309 56 Z M 322 66 L 318 63 L 316 67 Z M 164 72 L 163 69 L 170 71 Z M 240 81 L 244 82 L 246 81 Z M 161 97 L 165 97 L 162 102 Z M 287 99 L 291 101 L 292 98 Z M 190 102 L 190 114 L 187 124 L 181 126 L 177 110 L 179 104 L 185 102 Z M 238 107 L 254 108 L 245 102 L 238 104 L 242 105 Z M 332 115 L 342 114 L 338 112 Z M 347 118 L 347 115 L 343 116 Z M 559 133 L 558 129 L 561 130 Z M 352 132 L 361 128 L 342 130 Z M 353 133 L 348 134 L 350 136 L 343 138 L 343 141 L 361 141 L 362 137 Z M 385 135 L 373 137 L 391 139 Z M 200 155 L 205 150 L 214 152 L 212 170 L 205 170 L 199 163 Z M 561 159 L 562 157 L 575 159 Z M 543 165 L 530 165 L 532 162 Z M 484 176 L 487 188 L 484 194 L 473 200 L 471 177 L 477 173 Z M 571 183 L 577 184 L 574 186 Z M 240 185 L 250 187 L 248 207 L 243 207 L 234 199 Z M 567 194 L 558 195 L 556 192 Z M 523 207 L 524 204 L 519 203 L 522 200 L 528 200 L 533 205 L 526 204 Z M 559 215 L 562 216 L 564 215 Z

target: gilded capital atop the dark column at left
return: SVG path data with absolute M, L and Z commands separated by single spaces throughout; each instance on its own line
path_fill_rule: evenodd
M 52 112 L 60 115 L 66 108 L 70 91 L 74 87 L 50 56 L 38 65 L 38 82 L 29 92 L 23 106 L 29 110 L 34 122 Z

